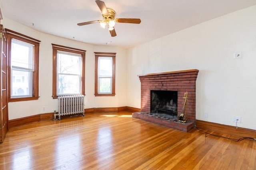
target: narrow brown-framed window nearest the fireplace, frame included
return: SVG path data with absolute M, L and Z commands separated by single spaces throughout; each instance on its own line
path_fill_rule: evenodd
M 95 53 L 95 96 L 115 96 L 116 53 Z

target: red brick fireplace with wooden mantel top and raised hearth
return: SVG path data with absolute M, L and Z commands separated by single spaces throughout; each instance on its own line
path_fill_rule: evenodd
M 138 75 L 141 82 L 141 111 L 132 113 L 132 117 L 150 121 L 152 123 L 171 127 L 181 131 L 190 131 L 196 122 L 196 78 L 199 70 L 180 70 L 172 72 L 162 72 L 154 74 Z M 152 117 L 150 113 L 150 91 L 165 90 L 177 91 L 178 115 L 182 111 L 184 104 L 184 93 L 188 92 L 188 102 L 186 105 L 186 123 Z

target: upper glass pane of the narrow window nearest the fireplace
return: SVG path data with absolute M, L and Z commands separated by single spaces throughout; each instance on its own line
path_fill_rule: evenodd
M 112 57 L 98 58 L 98 76 L 112 76 Z

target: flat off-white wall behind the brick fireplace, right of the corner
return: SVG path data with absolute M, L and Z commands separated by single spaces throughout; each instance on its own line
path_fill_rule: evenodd
M 140 108 L 138 74 L 188 69 L 199 70 L 196 119 L 256 129 L 256 6 L 128 49 L 127 105 Z

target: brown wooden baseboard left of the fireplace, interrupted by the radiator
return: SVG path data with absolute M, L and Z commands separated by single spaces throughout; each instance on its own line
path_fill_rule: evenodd
M 134 107 L 105 107 L 105 108 L 88 108 L 84 109 L 85 114 L 86 113 L 94 113 L 94 112 L 118 112 L 118 111 L 140 111 L 140 109 L 134 108 Z M 45 121 L 45 120 L 53 120 L 54 119 L 54 113 L 43 113 L 38 115 L 32 115 L 28 117 L 22 117 L 18 119 L 12 119 L 8 122 L 8 128 L 25 125 L 28 123 L 33 123 L 36 121 Z

